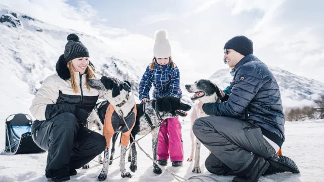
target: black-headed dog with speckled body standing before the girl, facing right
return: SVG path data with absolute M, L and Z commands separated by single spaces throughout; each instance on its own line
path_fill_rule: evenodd
M 174 96 L 161 97 L 137 104 L 136 123 L 131 133 L 135 138 L 137 134 L 145 135 L 151 132 L 153 159 L 156 161 L 158 131 L 161 122 L 172 117 L 185 117 L 187 116 L 185 111 L 189 111 L 190 109 L 190 105 L 181 102 L 180 98 Z M 114 151 L 117 134 L 118 133 L 115 133 L 112 137 L 112 151 Z M 130 144 L 132 142 L 133 138 L 131 137 Z M 113 152 L 111 152 L 110 160 L 112 160 L 112 158 Z M 137 170 L 137 152 L 135 144 L 132 145 L 131 151 L 129 152 L 128 161 L 131 162 L 131 171 L 135 172 Z M 153 172 L 155 174 L 161 174 L 162 170 L 153 163 Z

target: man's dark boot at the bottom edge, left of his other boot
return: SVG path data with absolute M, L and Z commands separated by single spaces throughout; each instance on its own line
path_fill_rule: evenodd
M 258 156 L 255 164 L 248 170 L 244 176 L 236 176 L 232 182 L 256 182 L 259 180 L 261 175 L 268 169 L 269 162 L 263 157 Z M 250 168 L 250 166 L 249 166 Z

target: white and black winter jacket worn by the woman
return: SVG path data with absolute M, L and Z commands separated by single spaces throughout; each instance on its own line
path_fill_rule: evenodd
M 31 114 L 37 120 L 49 120 L 62 112 L 74 114 L 75 106 L 85 109 L 89 113 L 93 110 L 99 96 L 96 89 L 86 86 L 86 74 L 75 72 L 75 81 L 78 93 L 74 93 L 70 73 L 62 55 L 56 65 L 57 74 L 47 77 L 41 88 L 37 91 L 29 108 Z

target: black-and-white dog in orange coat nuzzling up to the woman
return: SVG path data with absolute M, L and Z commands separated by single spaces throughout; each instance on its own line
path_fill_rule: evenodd
M 128 116 L 131 112 L 133 112 L 135 106 L 135 98 L 134 94 L 131 92 L 131 89 L 125 90 L 123 89 L 123 84 L 126 82 L 121 82 L 116 78 L 103 76 L 101 79 L 89 79 L 88 84 L 91 88 L 97 89 L 100 94 L 103 96 L 103 99 L 107 100 L 112 107 L 115 109 L 119 118 Z M 127 84 L 129 84 L 127 82 Z M 106 108 L 107 109 L 107 108 Z M 118 112 L 121 111 L 121 112 Z M 102 128 L 105 126 L 100 125 L 99 123 L 104 122 L 106 111 L 102 112 L 102 117 L 99 117 L 98 114 L 91 114 L 89 116 L 88 121 L 95 123 L 96 125 L 101 126 Z M 123 113 L 121 115 L 120 113 Z M 134 118 L 135 120 L 135 118 Z M 112 125 L 114 122 L 119 122 L 111 119 Z M 92 123 L 90 123 L 92 124 Z M 92 124 L 93 125 L 93 124 Z M 127 129 L 127 128 L 126 128 Z M 110 141 L 110 138 L 106 140 Z M 125 169 L 125 156 L 126 156 L 127 147 L 122 145 L 120 148 L 120 173 L 121 177 L 132 177 L 132 175 L 126 171 Z M 109 147 L 104 150 L 104 158 L 103 158 L 103 167 L 98 176 L 98 179 L 105 180 L 107 178 L 109 166 Z

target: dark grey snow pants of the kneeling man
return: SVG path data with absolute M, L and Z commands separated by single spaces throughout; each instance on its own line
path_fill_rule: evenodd
M 241 176 L 251 170 L 257 155 L 268 158 L 275 154 L 258 124 L 252 126 L 236 118 L 210 116 L 196 119 L 192 130 L 211 151 L 205 165 L 214 174 Z

